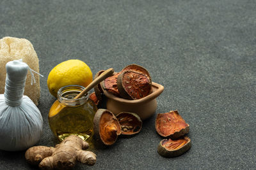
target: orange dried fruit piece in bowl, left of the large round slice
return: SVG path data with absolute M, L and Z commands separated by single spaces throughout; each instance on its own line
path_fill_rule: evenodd
M 111 92 L 115 96 L 120 96 L 118 88 L 117 88 L 117 77 L 118 77 L 119 74 L 121 74 L 121 72 L 116 73 L 113 76 L 110 76 L 110 77 L 106 78 L 102 82 L 103 89 L 107 90 L 108 92 Z

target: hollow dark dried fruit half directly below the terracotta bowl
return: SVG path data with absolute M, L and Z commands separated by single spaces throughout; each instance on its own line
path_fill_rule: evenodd
M 122 134 L 125 136 L 138 134 L 142 127 L 142 121 L 136 113 L 122 112 L 116 115 L 121 125 Z

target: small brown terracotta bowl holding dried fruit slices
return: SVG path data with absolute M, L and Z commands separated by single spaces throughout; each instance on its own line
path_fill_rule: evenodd
M 105 96 L 108 97 L 106 103 L 107 109 L 112 111 L 115 115 L 127 111 L 137 113 L 141 120 L 145 120 L 155 113 L 157 108 L 156 97 L 159 96 L 163 90 L 163 85 L 152 82 L 152 93 L 138 100 L 127 100 L 116 97 L 106 90 L 103 90 L 103 92 Z

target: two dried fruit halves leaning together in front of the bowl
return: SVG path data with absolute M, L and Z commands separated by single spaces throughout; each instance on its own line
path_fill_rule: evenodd
M 95 138 L 103 145 L 113 145 L 119 135 L 131 136 L 140 132 L 142 121 L 135 113 L 122 112 L 115 115 L 99 109 L 93 119 Z

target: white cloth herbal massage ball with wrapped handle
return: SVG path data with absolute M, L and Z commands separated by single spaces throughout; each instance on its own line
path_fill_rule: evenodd
M 28 69 L 21 60 L 6 64 L 4 94 L 0 94 L 0 150 L 25 150 L 40 140 L 42 115 L 33 101 L 23 96 Z

